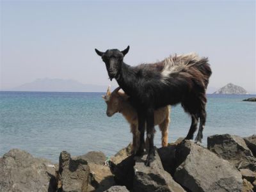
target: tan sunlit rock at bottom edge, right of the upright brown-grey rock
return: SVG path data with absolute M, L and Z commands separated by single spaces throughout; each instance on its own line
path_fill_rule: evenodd
M 88 191 L 101 192 L 115 185 L 114 175 L 108 166 L 102 164 L 89 163 L 90 172 L 93 174 L 91 185 L 94 189 Z

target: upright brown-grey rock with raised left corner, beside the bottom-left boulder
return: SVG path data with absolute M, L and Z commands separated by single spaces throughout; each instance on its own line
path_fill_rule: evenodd
M 85 160 L 74 160 L 68 152 L 61 152 L 59 175 L 61 190 L 72 192 L 88 190 L 90 168 Z

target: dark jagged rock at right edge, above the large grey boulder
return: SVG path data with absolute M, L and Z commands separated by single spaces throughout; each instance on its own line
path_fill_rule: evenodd
M 207 147 L 237 168 L 249 168 L 256 171 L 256 158 L 246 146 L 243 138 L 230 134 L 209 136 Z

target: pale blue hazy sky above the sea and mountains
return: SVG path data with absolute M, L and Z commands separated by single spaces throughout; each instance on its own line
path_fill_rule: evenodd
M 255 1 L 1 1 L 2 89 L 44 77 L 115 84 L 94 48 L 127 45 L 129 65 L 198 52 L 209 86 L 256 92 Z

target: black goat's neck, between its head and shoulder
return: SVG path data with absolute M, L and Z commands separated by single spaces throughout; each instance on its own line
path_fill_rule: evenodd
M 131 66 L 123 62 L 116 81 L 127 95 L 132 95 L 132 92 L 134 92 L 134 83 L 136 83 L 136 76 Z

